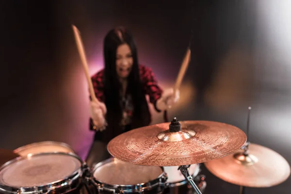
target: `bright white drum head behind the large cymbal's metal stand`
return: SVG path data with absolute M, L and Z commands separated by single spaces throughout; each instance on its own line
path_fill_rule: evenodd
M 164 171 L 167 173 L 169 183 L 177 183 L 185 180 L 185 177 L 182 175 L 181 171 L 178 170 L 179 166 L 164 166 Z M 192 164 L 189 168 L 189 174 L 191 176 L 196 177 L 199 173 L 199 165 Z

